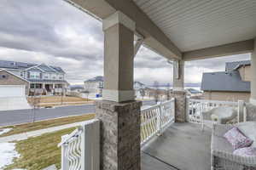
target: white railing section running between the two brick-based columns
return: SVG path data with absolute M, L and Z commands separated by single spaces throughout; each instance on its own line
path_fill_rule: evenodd
M 153 105 L 141 111 L 141 144 L 162 133 L 174 120 L 175 99 Z

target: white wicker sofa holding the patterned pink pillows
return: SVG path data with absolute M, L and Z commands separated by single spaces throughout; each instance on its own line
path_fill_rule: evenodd
M 255 123 L 255 122 L 253 122 Z M 233 154 L 232 145 L 224 139 L 224 133 L 233 127 L 243 127 L 245 134 L 252 134 L 256 131 L 256 126 L 252 122 L 242 122 L 236 125 L 213 124 L 212 144 L 211 144 L 211 163 L 212 170 L 255 170 L 256 156 L 237 156 Z M 243 132 L 244 133 L 244 132 Z M 253 133 L 254 134 L 254 133 Z M 255 142 L 255 137 L 254 137 Z

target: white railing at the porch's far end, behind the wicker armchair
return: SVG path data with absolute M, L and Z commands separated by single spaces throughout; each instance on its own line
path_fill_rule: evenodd
M 239 102 L 187 98 L 187 120 L 189 122 L 201 122 L 200 113 L 202 111 L 210 111 L 220 106 L 237 108 L 238 105 Z

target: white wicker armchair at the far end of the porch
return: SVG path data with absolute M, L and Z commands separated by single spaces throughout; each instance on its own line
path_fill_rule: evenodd
M 202 111 L 201 117 L 201 130 L 204 130 L 204 126 L 212 127 L 212 124 L 226 124 L 233 120 L 237 116 L 237 111 L 233 107 L 217 107 L 210 111 Z

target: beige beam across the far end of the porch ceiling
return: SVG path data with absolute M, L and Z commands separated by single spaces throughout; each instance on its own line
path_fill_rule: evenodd
M 253 52 L 254 40 L 246 40 L 242 42 L 233 42 L 212 48 L 202 48 L 193 51 L 183 52 L 183 59 L 186 61 L 197 59 L 211 59 L 215 57 L 245 54 Z

